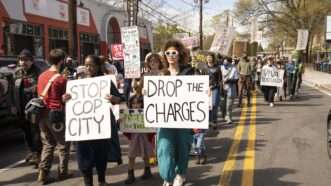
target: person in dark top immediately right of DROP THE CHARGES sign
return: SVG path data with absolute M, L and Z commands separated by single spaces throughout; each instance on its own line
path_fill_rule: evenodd
M 218 106 L 220 103 L 220 89 L 222 84 L 222 74 L 220 68 L 216 64 L 215 55 L 213 53 L 208 53 L 207 55 L 207 65 L 209 74 L 209 92 L 212 97 L 212 108 L 210 111 L 209 121 L 214 129 L 217 128 L 217 113 Z

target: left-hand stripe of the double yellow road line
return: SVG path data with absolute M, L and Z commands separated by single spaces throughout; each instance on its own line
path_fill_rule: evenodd
M 241 111 L 239 124 L 236 127 L 236 132 L 235 132 L 235 135 L 234 135 L 234 138 L 233 138 L 232 145 L 230 147 L 228 157 L 227 157 L 227 159 L 224 163 L 224 167 L 223 167 L 223 170 L 221 172 L 221 178 L 220 178 L 220 182 L 219 182 L 220 186 L 228 186 L 230 184 L 232 171 L 233 171 L 233 169 L 235 168 L 235 165 L 236 165 L 236 157 L 235 156 L 238 152 L 240 141 L 241 141 L 241 138 L 242 138 L 242 134 L 243 134 L 244 128 L 245 128 L 247 110 L 248 110 L 247 106 L 246 106 L 246 104 L 244 104 L 244 107 Z

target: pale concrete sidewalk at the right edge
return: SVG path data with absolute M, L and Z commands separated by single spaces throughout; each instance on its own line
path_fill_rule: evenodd
M 312 86 L 331 92 L 331 74 L 315 71 L 312 68 L 306 68 L 302 79 Z

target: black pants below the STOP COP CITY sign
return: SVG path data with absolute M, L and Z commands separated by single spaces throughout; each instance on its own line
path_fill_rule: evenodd
M 96 167 L 99 183 L 105 182 L 107 168 L 107 140 L 77 142 L 78 168 L 84 176 L 86 186 L 93 185 L 93 167 Z

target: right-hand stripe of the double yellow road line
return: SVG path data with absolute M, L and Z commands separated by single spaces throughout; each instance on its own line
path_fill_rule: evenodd
M 244 172 L 241 186 L 254 185 L 254 168 L 255 168 L 255 140 L 256 140 L 256 94 L 252 100 L 252 110 L 250 115 L 250 126 L 248 130 L 248 144 L 245 152 Z

